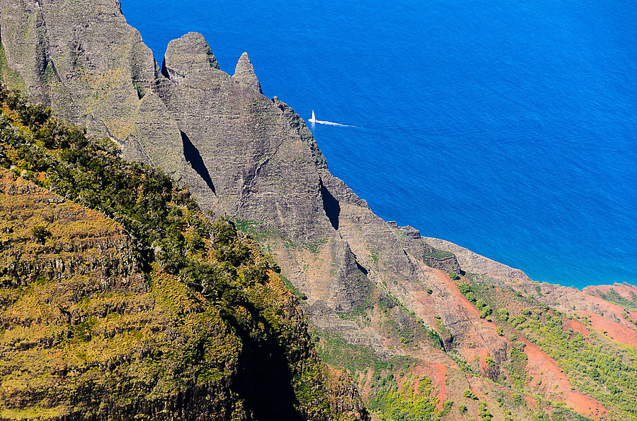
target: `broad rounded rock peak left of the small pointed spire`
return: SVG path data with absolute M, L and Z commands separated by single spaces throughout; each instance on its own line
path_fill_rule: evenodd
M 188 32 L 168 43 L 161 68 L 163 76 L 179 82 L 188 74 L 210 69 L 219 70 L 219 64 L 210 45 L 199 32 Z

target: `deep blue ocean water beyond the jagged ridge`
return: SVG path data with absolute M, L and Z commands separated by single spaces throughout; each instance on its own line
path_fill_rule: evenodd
M 381 218 L 584 287 L 637 283 L 633 1 L 120 0 L 161 64 L 242 52 Z

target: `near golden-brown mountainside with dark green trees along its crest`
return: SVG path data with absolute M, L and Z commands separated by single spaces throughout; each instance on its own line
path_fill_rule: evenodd
M 367 417 L 254 242 L 109 141 L 0 109 L 1 419 Z

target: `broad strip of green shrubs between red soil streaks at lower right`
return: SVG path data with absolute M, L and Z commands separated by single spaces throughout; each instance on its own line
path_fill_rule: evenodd
M 618 345 L 595 332 L 585 338 L 579 332 L 570 331 L 564 325 L 565 315 L 537 302 L 534 297 L 521 302 L 510 289 L 494 292 L 487 285 L 476 282 L 463 282 L 458 286 L 463 295 L 481 309 L 481 314 L 485 309 L 498 309 L 495 323 L 502 333 L 511 335 L 513 342 L 510 362 L 505 364 L 505 368 L 507 381 L 514 389 L 528 391 L 529 381 L 524 369 L 527 356 L 524 344 L 515 340 L 517 332 L 556 360 L 575 389 L 600 401 L 614 417 L 637 419 L 634 405 L 634 396 L 637 396 L 635 348 Z M 540 285 L 536 285 L 537 289 L 541 291 Z M 580 322 L 590 325 L 587 319 Z M 498 381 L 503 382 L 502 379 Z M 563 411 L 563 414 L 569 420 L 577 419 L 568 411 Z

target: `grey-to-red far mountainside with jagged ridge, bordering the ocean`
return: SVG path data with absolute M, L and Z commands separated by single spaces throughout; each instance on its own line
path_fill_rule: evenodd
M 261 93 L 247 54 L 230 76 L 190 32 L 159 66 L 113 0 L 0 0 L 0 32 L 5 83 L 188 184 L 275 254 L 321 355 L 375 413 L 637 419 L 637 312 L 381 220 Z

